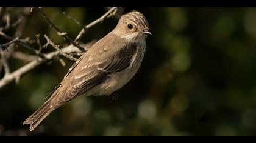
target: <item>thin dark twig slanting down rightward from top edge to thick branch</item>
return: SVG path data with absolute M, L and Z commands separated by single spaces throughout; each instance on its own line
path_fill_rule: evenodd
M 57 32 L 57 34 L 59 36 L 63 36 L 65 39 L 68 39 L 68 41 L 73 44 L 74 46 L 76 46 L 77 48 L 79 48 L 79 50 L 81 50 L 82 52 L 85 52 L 83 51 L 84 48 L 83 47 L 80 47 L 80 45 L 78 45 L 75 41 L 73 41 L 73 39 L 71 39 L 69 36 L 68 36 L 68 33 L 66 32 L 62 32 L 62 30 L 60 30 L 59 28 L 57 28 L 53 23 L 52 21 L 48 18 L 48 16 L 46 15 L 46 13 L 44 12 L 43 8 L 41 7 L 37 7 L 37 10 L 39 10 L 39 12 L 43 15 L 43 17 L 49 22 L 49 24 L 51 25 L 51 27 L 54 28 L 55 32 Z

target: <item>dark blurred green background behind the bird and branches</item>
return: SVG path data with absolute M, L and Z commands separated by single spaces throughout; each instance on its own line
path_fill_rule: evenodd
M 80 28 L 62 11 L 82 24 L 106 12 L 103 7 L 44 10 L 73 39 Z M 134 7 L 124 13 L 131 10 L 146 16 L 153 35 L 140 70 L 118 91 L 118 101 L 80 96 L 29 131 L 24 120 L 45 102 L 73 61 L 65 59 L 65 67 L 59 61 L 43 64 L 20 84 L 0 89 L 0 135 L 256 135 L 256 8 Z M 110 18 L 90 28 L 82 41 L 102 38 L 117 22 Z M 21 38 L 38 33 L 66 44 L 35 11 Z M 12 71 L 26 64 L 9 63 Z

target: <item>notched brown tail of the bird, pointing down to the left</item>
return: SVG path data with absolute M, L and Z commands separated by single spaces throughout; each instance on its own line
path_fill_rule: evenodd
M 30 131 L 34 130 L 44 118 L 46 118 L 52 112 L 50 108 L 50 102 L 46 102 L 38 108 L 29 118 L 24 121 L 25 124 L 30 124 Z

